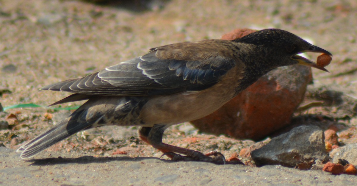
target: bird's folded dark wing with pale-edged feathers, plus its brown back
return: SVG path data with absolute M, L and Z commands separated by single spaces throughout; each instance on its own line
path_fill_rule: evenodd
M 235 59 L 212 43 L 157 47 L 144 56 L 41 90 L 106 96 L 156 96 L 204 90 L 235 66 Z

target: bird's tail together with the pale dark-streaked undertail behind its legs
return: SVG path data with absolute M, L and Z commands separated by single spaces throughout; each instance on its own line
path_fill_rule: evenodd
M 20 157 L 26 159 L 85 129 L 103 125 L 120 124 L 124 126 L 139 123 L 138 110 L 145 102 L 146 99 L 142 97 L 91 97 L 69 117 L 21 146 L 17 152 L 21 152 Z

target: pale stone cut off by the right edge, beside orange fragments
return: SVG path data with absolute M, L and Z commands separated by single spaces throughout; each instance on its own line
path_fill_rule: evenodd
M 338 162 L 338 159 L 347 160 L 352 165 L 357 165 L 357 144 L 348 144 L 346 146 L 334 149 L 330 152 L 332 161 Z

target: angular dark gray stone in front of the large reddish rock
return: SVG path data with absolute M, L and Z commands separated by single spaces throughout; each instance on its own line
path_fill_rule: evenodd
M 257 166 L 295 167 L 303 161 L 327 161 L 324 138 L 323 131 L 317 126 L 299 126 L 253 150 L 251 157 Z

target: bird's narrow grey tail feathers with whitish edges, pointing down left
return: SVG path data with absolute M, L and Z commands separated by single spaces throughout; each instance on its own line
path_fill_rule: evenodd
M 41 135 L 35 137 L 25 145 L 17 149 L 17 152 L 21 152 L 20 157 L 27 159 L 35 154 L 45 150 L 47 147 L 79 132 L 81 130 L 90 128 L 95 121 L 83 119 L 86 116 L 86 109 L 76 110 L 71 116 L 59 122 L 52 129 L 47 130 Z

